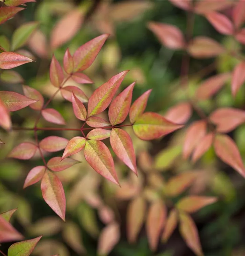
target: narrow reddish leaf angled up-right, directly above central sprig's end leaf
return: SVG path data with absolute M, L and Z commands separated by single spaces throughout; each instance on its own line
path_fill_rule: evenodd
M 133 124 L 136 119 L 143 114 L 146 108 L 146 104 L 152 89 L 143 93 L 138 99 L 134 101 L 130 110 L 129 110 L 129 119 L 131 124 Z

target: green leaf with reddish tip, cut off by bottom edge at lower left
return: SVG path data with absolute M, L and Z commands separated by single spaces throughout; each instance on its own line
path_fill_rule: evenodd
M 29 256 L 41 238 L 42 236 L 12 244 L 8 256 Z

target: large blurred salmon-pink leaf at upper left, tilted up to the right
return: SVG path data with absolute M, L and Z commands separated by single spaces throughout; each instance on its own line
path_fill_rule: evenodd
M 83 13 L 80 10 L 72 10 L 64 15 L 51 32 L 51 48 L 56 49 L 71 40 L 80 29 L 82 22 Z

